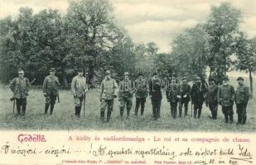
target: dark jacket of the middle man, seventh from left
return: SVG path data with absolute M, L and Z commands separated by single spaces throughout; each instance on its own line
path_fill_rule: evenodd
M 159 101 L 162 100 L 162 81 L 160 78 L 151 78 L 149 81 L 149 96 L 152 100 Z

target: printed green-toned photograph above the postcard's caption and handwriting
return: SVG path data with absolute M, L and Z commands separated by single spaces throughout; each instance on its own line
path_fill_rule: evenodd
M 0 130 L 256 131 L 256 1 L 0 1 Z

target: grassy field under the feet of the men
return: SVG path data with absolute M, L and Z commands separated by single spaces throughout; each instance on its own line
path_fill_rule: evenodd
M 235 81 L 231 81 L 237 87 Z M 245 82 L 245 84 L 248 84 Z M 254 94 L 256 97 L 256 94 Z M 256 129 L 256 99 L 249 101 L 247 108 L 248 122 L 246 125 L 236 125 L 237 114 L 234 106 L 234 123 L 225 124 L 221 107 L 218 110 L 218 119 L 210 120 L 210 110 L 203 106 L 200 120 L 191 118 L 191 105 L 189 116 L 186 118 L 171 119 L 170 105 L 163 92 L 160 120 L 152 120 L 152 105 L 147 98 L 144 116 L 134 116 L 135 98 L 133 108 L 128 120 L 119 119 L 119 102 L 114 101 L 114 111 L 109 123 L 99 120 L 99 92 L 90 90 L 86 97 L 85 117 L 75 117 L 73 96 L 70 90 L 60 90 L 60 103 L 56 103 L 53 115 L 44 115 L 45 97 L 40 88 L 32 88 L 27 98 L 27 114 L 17 118 L 12 114 L 12 92 L 7 86 L 0 87 L 0 130 L 147 130 L 147 131 L 225 131 L 225 132 L 254 132 Z M 16 111 L 15 111 L 16 112 Z M 17 113 L 17 112 L 16 112 Z M 83 112 L 81 112 L 83 113 Z M 126 114 L 126 111 L 125 113 Z

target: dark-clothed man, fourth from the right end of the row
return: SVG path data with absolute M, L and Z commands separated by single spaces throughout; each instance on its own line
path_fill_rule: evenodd
M 205 101 L 205 93 L 207 87 L 205 83 L 201 81 L 200 77 L 196 77 L 196 82 L 193 84 L 191 89 L 191 104 L 194 104 L 194 118 L 200 119 L 203 103 Z

